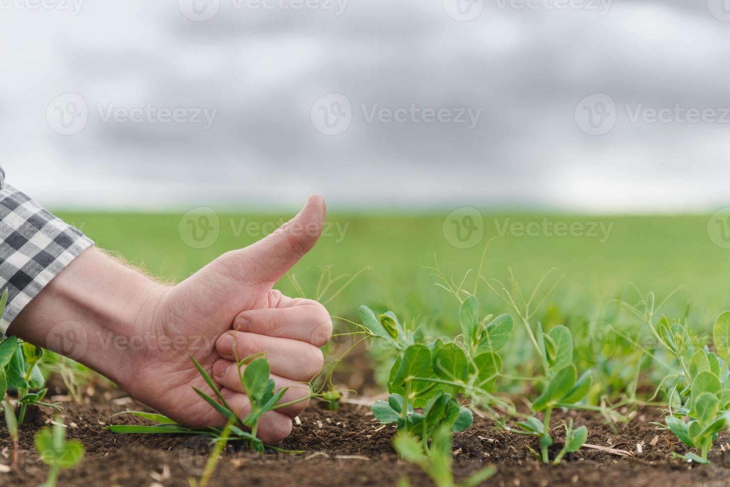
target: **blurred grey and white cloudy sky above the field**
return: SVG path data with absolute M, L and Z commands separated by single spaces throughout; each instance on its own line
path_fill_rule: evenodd
M 0 164 L 54 209 L 729 204 L 730 1 L 45 1 L 0 0 Z

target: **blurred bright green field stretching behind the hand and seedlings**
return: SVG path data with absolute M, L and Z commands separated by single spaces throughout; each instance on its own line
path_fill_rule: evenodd
M 183 214 L 58 214 L 80 227 L 101 248 L 118 252 L 134 265 L 169 281 L 181 281 L 223 252 L 261 238 L 261 232 L 246 230 L 250 222 L 269 222 L 271 227 L 280 218 L 292 216 L 220 214 L 220 236 L 215 244 L 193 249 L 178 231 Z M 334 275 L 350 276 L 367 268 L 328 303 L 332 314 L 353 318 L 358 306 L 366 304 L 378 311 L 392 309 L 402 319 L 427 317 L 444 330 L 456 330 L 458 303 L 434 287 L 435 279 L 424 266 L 433 265 L 436 255 L 443 273 L 459 281 L 466 270 L 477 268 L 484 244 L 497 235 L 496 226 L 504 219 L 527 223 L 541 222 L 545 217 L 483 214 L 484 236 L 471 249 L 449 244 L 442 228 L 445 214 L 331 214 L 331 235 L 323 236 L 292 274 L 305 295 L 313 297 L 321 266 L 332 265 Z M 643 291 L 655 291 L 658 296 L 685 287 L 667 311 L 678 318 L 691 305 L 689 316 L 697 330 L 709 330 L 715 316 L 730 308 L 730 250 L 712 243 L 707 216 L 553 215 L 549 219 L 567 225 L 600 221 L 612 224 L 612 231 L 603 243 L 597 237 L 520 236 L 508 232 L 489 249 L 483 275 L 504 279 L 511 267 L 520 286 L 529 292 L 547 270 L 557 268 L 565 278 L 548 304 L 553 305 L 553 313 L 557 310 L 558 320 L 568 321 L 577 315 L 581 319 L 602 319 L 612 298 L 636 299 L 628 283 Z M 338 232 L 334 224 L 346 231 Z M 297 294 L 288 279 L 277 287 Z M 337 289 L 337 284 L 331 289 Z M 477 295 L 489 311 L 507 311 L 484 285 L 480 285 Z

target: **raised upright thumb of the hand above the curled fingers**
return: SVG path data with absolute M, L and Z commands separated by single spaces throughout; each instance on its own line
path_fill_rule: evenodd
M 320 195 L 310 195 L 296 217 L 266 238 L 234 251 L 239 273 L 246 281 L 278 281 L 317 243 L 327 214 Z

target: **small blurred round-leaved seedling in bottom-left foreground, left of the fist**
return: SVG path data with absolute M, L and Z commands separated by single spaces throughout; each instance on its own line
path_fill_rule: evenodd
M 66 440 L 66 426 L 58 416 L 53 421 L 53 432 L 49 427 L 41 429 L 35 445 L 40 459 L 50 467 L 42 487 L 55 487 L 58 470 L 74 467 L 84 456 L 84 445 L 79 440 Z

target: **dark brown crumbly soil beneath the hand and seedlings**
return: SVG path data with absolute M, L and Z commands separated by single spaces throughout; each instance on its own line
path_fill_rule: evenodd
M 121 391 L 97 390 L 83 404 L 64 402 L 61 416 L 69 426 L 67 436 L 82 440 L 86 455 L 79 466 L 61 472 L 59 485 L 184 486 L 188 478 L 201 474 L 210 451 L 201 437 L 116 435 L 103 429 L 107 424 L 144 424 L 139 418 L 112 418 L 113 413 L 130 409 L 144 408 Z M 29 414 L 21 430 L 20 465 L 0 473 L 1 485 L 38 485 L 45 480 L 47 467 L 34 453 L 33 435 L 52 415 L 53 411 L 45 408 Z M 582 448 L 566 456 L 560 465 L 546 466 L 537 463 L 529 451 L 528 447 L 537 449 L 534 438 L 497 431 L 488 421 L 477 418 L 454 442 L 454 471 L 461 475 L 457 480 L 491 464 L 497 473 L 484 485 L 714 487 L 730 483 L 730 449 L 729 457 L 723 459 L 720 447 L 730 441 L 727 433 L 715 443 L 715 464 L 706 467 L 672 459 L 672 450 L 685 449 L 675 437 L 650 424 L 660 418 L 656 410 L 640 410 L 630 424 L 616 425 L 615 432 L 602 418 L 585 413 L 569 415 L 577 424 L 588 426 L 589 444 L 629 451 L 631 456 Z M 568 417 L 555 416 L 556 428 L 561 417 Z M 431 485 L 418 467 L 393 453 L 394 428 L 380 428 L 369 408 L 345 404 L 330 412 L 312 405 L 300 419 L 301 425 L 295 424 L 291 437 L 281 446 L 306 453 L 259 456 L 229 445 L 210 485 L 395 486 L 406 475 L 414 486 Z M 10 442 L 4 421 L 2 424 L 0 463 L 7 465 Z M 642 445 L 642 453 L 638 453 L 637 444 Z

